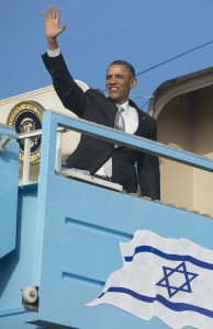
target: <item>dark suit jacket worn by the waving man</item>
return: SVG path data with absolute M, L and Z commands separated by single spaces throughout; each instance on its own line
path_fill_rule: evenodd
M 66 109 L 83 120 L 114 127 L 116 104 L 113 100 L 94 89 L 83 92 L 70 76 L 61 55 L 48 57 L 44 54 L 43 60 Z M 156 140 L 155 120 L 131 100 L 130 105 L 138 113 L 138 128 L 135 135 Z M 67 159 L 67 167 L 89 170 L 93 174 L 111 157 L 113 182 L 122 184 L 127 193 L 134 193 L 137 190 L 138 174 L 142 195 L 160 198 L 159 163 L 158 158 L 153 155 L 126 147 L 114 148 L 112 143 L 82 135 L 77 149 Z

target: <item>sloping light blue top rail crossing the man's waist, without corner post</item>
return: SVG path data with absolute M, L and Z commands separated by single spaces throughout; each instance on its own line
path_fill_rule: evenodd
M 60 127 L 69 128 L 78 133 L 83 133 L 88 136 L 98 137 L 117 145 L 213 172 L 213 159 L 211 158 L 177 149 L 158 141 L 116 131 L 114 128 L 109 128 L 86 120 L 66 117 L 65 115 L 60 116 L 55 112 L 51 113 L 51 116 L 55 117 Z

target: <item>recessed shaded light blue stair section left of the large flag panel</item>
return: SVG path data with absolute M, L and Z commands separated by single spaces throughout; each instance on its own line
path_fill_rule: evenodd
M 37 249 L 37 184 L 19 189 L 15 249 L 0 259 L 0 328 L 33 328 L 25 321 L 35 313 L 24 310 L 22 292 L 25 286 L 37 285 L 34 266 Z M 7 236 L 4 237 L 7 239 Z

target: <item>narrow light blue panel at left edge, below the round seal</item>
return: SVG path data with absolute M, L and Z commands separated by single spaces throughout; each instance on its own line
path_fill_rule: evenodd
M 0 151 L 0 259 L 15 248 L 16 235 L 19 144 L 14 128 L 0 125 L 0 140 L 7 135 L 12 138 Z

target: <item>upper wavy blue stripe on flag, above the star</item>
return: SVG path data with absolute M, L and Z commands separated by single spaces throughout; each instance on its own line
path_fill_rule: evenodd
M 187 261 L 190 262 L 197 266 L 206 269 L 206 270 L 213 270 L 213 264 L 211 263 L 206 263 L 203 261 L 200 261 L 189 254 L 172 254 L 172 253 L 166 253 L 160 251 L 157 248 L 150 247 L 150 246 L 139 246 L 137 248 L 135 248 L 135 252 L 133 256 L 128 256 L 128 257 L 124 257 L 124 260 L 126 262 L 132 262 L 135 254 L 141 253 L 141 252 L 150 252 L 150 253 L 155 253 L 156 256 L 159 256 L 161 258 L 165 258 L 167 260 L 172 260 L 172 261 Z

